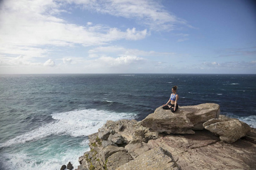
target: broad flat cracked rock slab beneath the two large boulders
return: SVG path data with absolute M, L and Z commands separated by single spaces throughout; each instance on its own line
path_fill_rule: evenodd
M 162 134 L 147 144 L 150 148 L 159 146 L 172 153 L 182 169 L 251 170 L 256 167 L 256 144 L 244 139 L 225 143 L 207 130 L 198 130 L 195 134 Z

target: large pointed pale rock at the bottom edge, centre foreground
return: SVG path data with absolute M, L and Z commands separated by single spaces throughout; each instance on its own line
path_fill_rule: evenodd
M 174 161 L 170 152 L 161 147 L 157 147 L 139 155 L 136 159 L 123 164 L 117 168 L 117 170 L 145 170 L 145 167 L 147 169 L 157 170 L 181 169 L 180 166 Z

